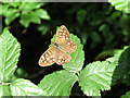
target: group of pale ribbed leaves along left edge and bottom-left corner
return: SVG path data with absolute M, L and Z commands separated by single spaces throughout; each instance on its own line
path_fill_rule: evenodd
M 46 91 L 24 78 L 12 78 L 17 68 L 21 45 L 8 28 L 0 35 L 0 97 L 47 96 Z

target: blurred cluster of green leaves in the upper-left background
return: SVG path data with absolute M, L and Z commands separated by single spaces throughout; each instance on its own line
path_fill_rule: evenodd
M 0 14 L 5 17 L 5 24 L 10 25 L 12 21 L 20 17 L 20 23 L 24 27 L 28 27 L 32 22 L 40 24 L 41 19 L 50 21 L 50 15 L 43 9 L 40 9 L 46 3 L 38 2 L 9 2 L 2 3 Z

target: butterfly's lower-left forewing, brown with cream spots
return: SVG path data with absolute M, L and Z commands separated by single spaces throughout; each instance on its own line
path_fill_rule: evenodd
M 55 63 L 55 61 L 56 61 L 55 54 L 56 54 L 56 49 L 53 45 L 40 57 L 38 64 L 40 66 L 49 66 L 49 65 Z

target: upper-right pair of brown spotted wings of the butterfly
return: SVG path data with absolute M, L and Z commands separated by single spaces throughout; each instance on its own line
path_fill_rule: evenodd
M 73 53 L 77 49 L 76 42 L 69 39 L 69 32 L 64 25 L 58 28 L 55 41 L 65 52 Z

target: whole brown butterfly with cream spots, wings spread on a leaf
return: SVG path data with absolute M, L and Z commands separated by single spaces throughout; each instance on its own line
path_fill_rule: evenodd
M 55 41 L 40 57 L 38 64 L 40 66 L 49 66 L 53 63 L 58 65 L 68 63 L 72 57 L 67 53 L 73 53 L 77 49 L 75 41 L 69 39 L 69 32 L 65 25 L 60 26 L 56 33 Z

